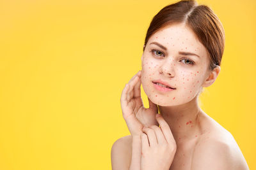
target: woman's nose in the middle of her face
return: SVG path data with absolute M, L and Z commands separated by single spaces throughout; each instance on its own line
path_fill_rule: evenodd
M 159 67 L 159 73 L 164 74 L 165 76 L 174 76 L 174 60 L 170 58 L 166 58 L 163 60 L 163 64 Z

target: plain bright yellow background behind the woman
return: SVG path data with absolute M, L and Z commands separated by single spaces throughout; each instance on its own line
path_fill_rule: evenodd
M 122 89 L 141 69 L 152 17 L 174 2 L 2 0 L 0 169 L 111 169 L 111 146 L 129 135 Z M 226 35 L 202 109 L 256 169 L 256 3 L 198 3 L 214 10 Z

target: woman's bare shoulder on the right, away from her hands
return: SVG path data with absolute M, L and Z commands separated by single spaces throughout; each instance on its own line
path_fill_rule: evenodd
M 214 120 L 195 145 L 191 169 L 249 169 L 236 140 Z

